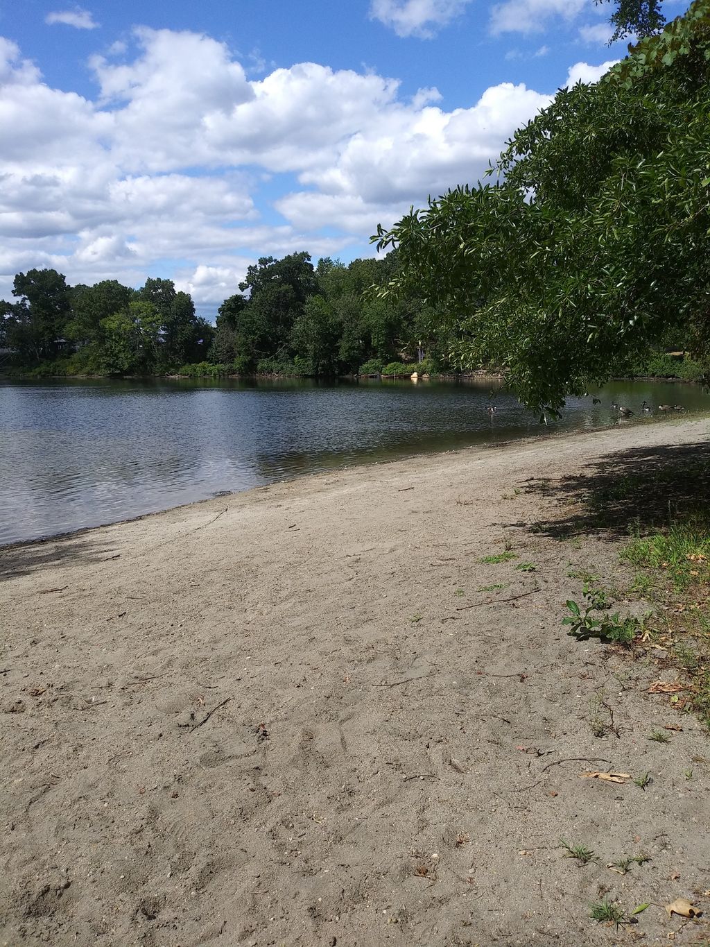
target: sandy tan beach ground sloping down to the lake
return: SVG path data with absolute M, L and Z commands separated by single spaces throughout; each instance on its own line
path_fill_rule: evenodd
M 625 578 L 618 535 L 565 527 L 594 478 L 709 433 L 423 456 L 0 550 L 0 944 L 710 943 L 707 734 L 648 693 L 675 680 L 654 649 L 560 624 L 569 572 Z M 649 906 L 617 930 L 604 897 Z

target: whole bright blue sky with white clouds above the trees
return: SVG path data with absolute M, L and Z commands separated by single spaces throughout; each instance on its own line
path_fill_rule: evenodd
M 213 315 L 260 256 L 371 255 L 378 222 L 474 183 L 559 86 L 624 55 L 611 9 L 0 0 L 0 298 L 52 266 L 174 278 Z

